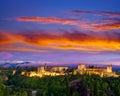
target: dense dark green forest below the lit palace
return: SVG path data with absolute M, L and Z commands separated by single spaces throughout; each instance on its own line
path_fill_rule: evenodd
M 32 90 L 37 96 L 120 96 L 120 77 L 68 74 L 40 78 L 2 71 L 0 77 L 0 96 L 31 96 Z

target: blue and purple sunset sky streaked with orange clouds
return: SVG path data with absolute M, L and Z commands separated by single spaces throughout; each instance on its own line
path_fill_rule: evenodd
M 120 65 L 119 0 L 1 0 L 0 62 Z

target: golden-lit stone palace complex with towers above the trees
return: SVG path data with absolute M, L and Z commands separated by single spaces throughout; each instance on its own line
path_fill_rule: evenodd
M 68 70 L 68 67 L 55 67 L 55 66 L 40 66 L 37 68 L 37 71 L 31 71 L 27 72 L 26 75 L 29 77 L 32 76 L 58 76 L 58 75 L 65 75 L 66 70 Z M 115 72 L 112 71 L 112 66 L 109 65 L 106 68 L 87 68 L 86 65 L 84 64 L 79 64 L 77 69 L 74 69 L 73 74 L 97 74 L 100 75 L 101 77 L 103 76 L 114 76 L 118 77 Z M 70 74 L 72 74 L 70 72 Z M 23 71 L 21 75 L 25 75 L 25 72 Z

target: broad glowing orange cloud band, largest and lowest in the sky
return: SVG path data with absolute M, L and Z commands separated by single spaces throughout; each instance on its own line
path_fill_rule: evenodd
M 63 30 L 60 34 L 58 34 L 58 32 L 53 33 L 54 34 L 50 32 L 43 33 L 35 31 L 24 33 L 6 32 L 8 40 L 12 41 L 10 43 L 20 43 L 40 49 L 76 50 L 85 52 L 120 51 L 119 33 L 112 33 L 104 36 L 100 36 L 99 34 L 86 34 L 76 30 L 71 32 Z M 6 35 L 4 35 L 4 37 L 6 38 Z M 3 40 L 1 41 L 4 42 Z M 3 43 L 0 46 L 2 46 L 2 49 L 0 48 L 1 50 L 9 50 L 9 47 L 4 47 Z M 14 48 L 13 50 L 17 50 Z M 22 48 L 18 49 L 23 50 Z

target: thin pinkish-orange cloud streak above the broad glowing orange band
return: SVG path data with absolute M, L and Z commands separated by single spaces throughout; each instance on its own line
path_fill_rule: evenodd
M 83 11 L 83 13 L 92 13 L 92 12 Z M 80 29 L 90 30 L 94 32 L 120 29 L 120 20 L 117 20 L 117 19 L 99 20 L 98 23 L 95 23 L 93 20 L 86 20 L 83 18 L 63 19 L 63 18 L 56 18 L 56 17 L 48 17 L 48 18 L 47 17 L 18 17 L 15 20 L 21 21 L 21 22 L 36 22 L 40 24 L 72 25 Z

